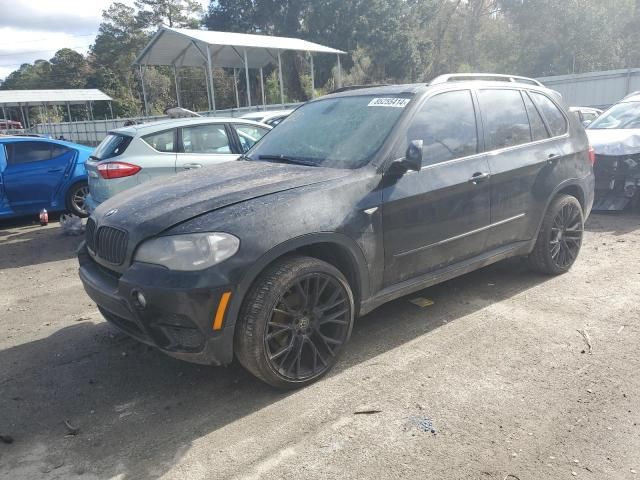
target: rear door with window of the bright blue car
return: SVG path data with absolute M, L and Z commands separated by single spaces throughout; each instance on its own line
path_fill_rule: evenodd
M 4 189 L 16 211 L 51 205 L 76 157 L 74 150 L 48 142 L 7 143 L 6 153 Z

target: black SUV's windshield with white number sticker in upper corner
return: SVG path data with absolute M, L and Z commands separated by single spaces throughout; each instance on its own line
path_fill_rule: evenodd
M 359 168 L 371 160 L 410 96 L 329 98 L 298 108 L 249 151 L 251 160 Z

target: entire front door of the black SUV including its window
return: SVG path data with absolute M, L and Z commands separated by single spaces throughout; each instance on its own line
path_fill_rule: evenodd
M 400 178 L 385 176 L 385 285 L 482 253 L 490 223 L 489 165 L 477 153 L 471 92 L 429 98 L 406 137 L 404 148 L 423 141 L 424 166 Z

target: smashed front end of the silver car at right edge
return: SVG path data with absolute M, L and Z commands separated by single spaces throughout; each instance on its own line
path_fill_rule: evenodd
M 640 153 L 596 155 L 593 210 L 623 210 L 640 199 Z

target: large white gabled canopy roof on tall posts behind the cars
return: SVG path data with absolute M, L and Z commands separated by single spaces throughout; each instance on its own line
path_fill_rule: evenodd
M 261 68 L 276 63 L 278 52 L 284 50 L 345 53 L 298 38 L 162 26 L 134 63 L 201 67 L 207 63 L 207 47 L 211 55 L 211 64 L 227 68 L 244 68 L 245 50 L 249 68 Z

